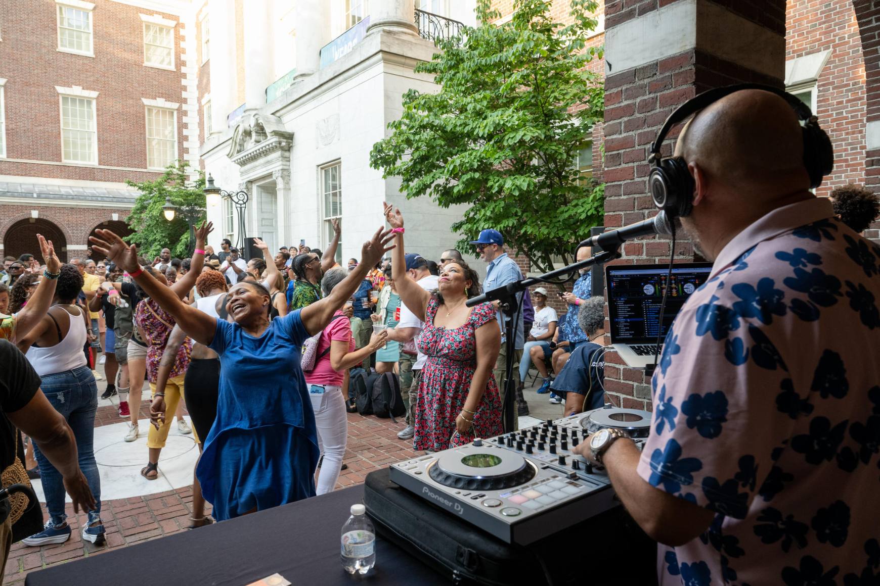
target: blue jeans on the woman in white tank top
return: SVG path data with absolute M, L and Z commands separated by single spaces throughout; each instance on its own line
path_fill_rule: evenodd
M 95 411 L 98 410 L 98 385 L 88 365 L 80 366 L 72 371 L 47 374 L 42 377 L 40 388 L 52 407 L 64 416 L 73 437 L 77 440 L 79 468 L 85 480 L 92 488 L 92 495 L 98 503 L 96 510 L 89 511 L 89 525 L 100 519 L 101 511 L 101 479 L 92 440 L 95 435 Z M 64 524 L 64 482 L 59 473 L 37 445 L 33 446 L 33 455 L 40 465 L 40 480 L 43 493 L 46 495 L 46 508 L 55 527 Z

